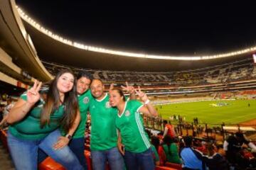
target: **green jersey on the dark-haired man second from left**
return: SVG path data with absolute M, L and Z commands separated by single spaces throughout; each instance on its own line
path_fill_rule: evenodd
M 79 110 L 81 115 L 81 120 L 78 128 L 73 134 L 73 138 L 80 138 L 85 136 L 85 124 L 87 121 L 87 111 L 89 110 L 89 102 L 92 100 L 92 94 L 90 90 L 86 91 L 82 95 L 78 95 Z

